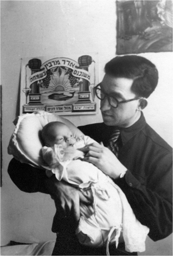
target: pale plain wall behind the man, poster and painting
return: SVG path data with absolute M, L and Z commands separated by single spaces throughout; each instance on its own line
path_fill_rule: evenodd
M 7 146 L 19 114 L 20 60 L 24 57 L 70 53 L 99 53 L 103 67 L 115 57 L 115 1 L 1 1 L 1 84 L 3 186 L 1 188 L 1 243 L 42 242 L 55 239 L 51 223 L 55 206 L 50 196 L 20 191 L 7 174 L 12 158 Z M 172 145 L 172 54 L 142 54 L 157 65 L 159 85 L 144 111 L 148 123 Z M 101 115 L 69 116 L 75 125 L 101 122 Z M 169 236 L 147 241 L 143 255 L 172 255 Z

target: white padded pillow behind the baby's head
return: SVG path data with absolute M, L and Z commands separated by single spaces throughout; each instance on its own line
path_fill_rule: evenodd
M 70 127 L 77 138 L 83 133 L 64 117 L 57 116 L 46 111 L 37 111 L 32 114 L 24 114 L 14 120 L 16 125 L 8 145 L 8 154 L 13 155 L 21 163 L 28 163 L 35 167 L 47 168 L 47 164 L 41 156 L 40 132 L 49 122 L 62 122 Z

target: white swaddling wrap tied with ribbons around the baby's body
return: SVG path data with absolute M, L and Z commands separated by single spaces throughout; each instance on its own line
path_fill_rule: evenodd
M 85 144 L 85 143 L 84 143 Z M 82 145 L 81 145 L 82 146 Z M 58 151 L 44 147 L 43 155 Z M 54 158 L 55 159 L 55 158 Z M 89 189 L 93 198 L 93 211 L 83 204 L 80 205 L 81 219 L 76 230 L 81 244 L 88 246 L 107 245 L 109 242 L 125 242 L 128 252 L 145 251 L 145 239 L 149 228 L 143 226 L 133 213 L 123 191 L 106 174 L 91 163 L 81 159 L 67 160 L 59 153 L 57 163 L 53 162 L 52 172 L 58 180 L 65 180 L 79 189 Z

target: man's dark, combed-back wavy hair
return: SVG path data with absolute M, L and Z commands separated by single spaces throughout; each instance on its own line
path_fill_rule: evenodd
M 118 56 L 105 65 L 105 73 L 113 77 L 133 79 L 132 91 L 139 97 L 148 98 L 158 84 L 155 65 L 137 55 Z

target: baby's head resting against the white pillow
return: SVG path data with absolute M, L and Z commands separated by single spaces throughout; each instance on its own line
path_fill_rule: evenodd
M 76 142 L 68 126 L 61 122 L 50 122 L 46 124 L 41 131 L 41 137 L 48 147 L 53 147 L 57 144 L 62 145 L 63 149 L 65 149 L 68 146 L 73 146 Z

